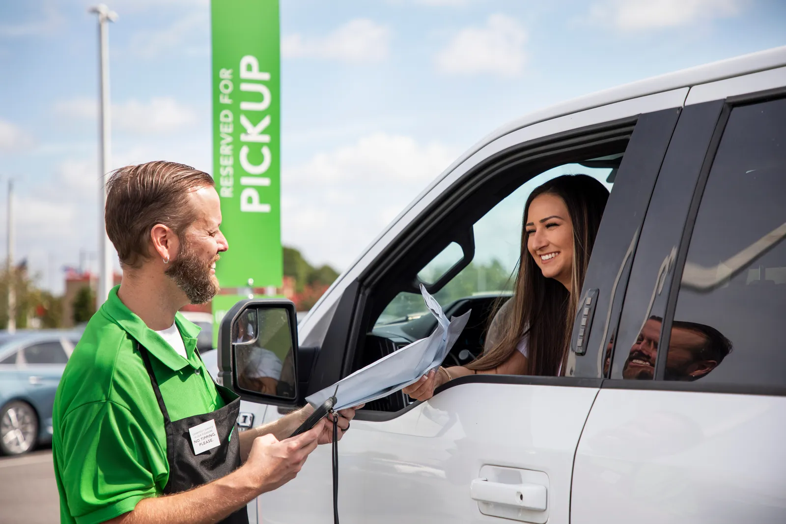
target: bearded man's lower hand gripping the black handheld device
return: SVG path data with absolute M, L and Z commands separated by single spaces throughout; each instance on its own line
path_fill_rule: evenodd
M 310 452 L 317 448 L 325 426 L 325 420 L 320 420 L 306 433 L 283 441 L 272 434 L 254 439 L 243 469 L 248 472 L 251 482 L 259 487 L 259 493 L 272 491 L 296 477 Z

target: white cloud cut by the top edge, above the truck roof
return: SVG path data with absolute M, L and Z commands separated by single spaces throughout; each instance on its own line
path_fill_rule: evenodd
M 741 5 L 741 0 L 604 0 L 590 8 L 589 21 L 612 24 L 621 31 L 670 28 L 733 17 Z

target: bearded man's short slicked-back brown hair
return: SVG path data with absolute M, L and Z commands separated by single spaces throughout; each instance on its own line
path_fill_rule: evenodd
M 183 238 L 196 219 L 189 192 L 213 186 L 208 173 L 176 162 L 154 161 L 119 168 L 106 183 L 106 233 L 123 268 L 149 259 L 150 231 L 161 223 Z

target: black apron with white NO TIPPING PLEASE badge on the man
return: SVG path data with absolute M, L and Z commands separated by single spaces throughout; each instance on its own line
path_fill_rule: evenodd
M 169 480 L 163 493 L 181 493 L 196 486 L 207 484 L 226 477 L 241 465 L 240 437 L 237 433 L 237 415 L 241 411 L 241 400 L 230 389 L 215 385 L 226 404 L 204 415 L 193 415 L 180 420 L 170 420 L 167 407 L 163 405 L 161 389 L 158 387 L 156 375 L 152 372 L 150 357 L 143 345 L 138 345 L 142 360 L 145 361 L 152 389 L 156 393 L 158 406 L 163 414 L 163 425 L 167 431 L 167 462 L 169 463 Z M 194 349 L 196 351 L 196 349 Z M 199 355 L 199 352 L 196 353 Z M 201 359 L 201 357 L 200 357 Z M 221 445 L 194 455 L 191 445 L 189 428 L 197 424 L 215 420 L 215 429 L 219 434 Z M 230 434 L 232 437 L 230 438 Z M 241 507 L 232 515 L 224 518 L 219 524 L 248 524 L 248 510 Z

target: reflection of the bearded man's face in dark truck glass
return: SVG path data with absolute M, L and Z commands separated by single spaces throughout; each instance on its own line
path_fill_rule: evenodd
M 662 324 L 663 319 L 657 316 L 647 320 L 630 348 L 630 354 L 623 366 L 623 378 L 652 380 L 655 376 L 655 360 Z M 718 367 L 731 350 L 731 341 L 714 327 L 674 320 L 663 378 L 698 380 Z

